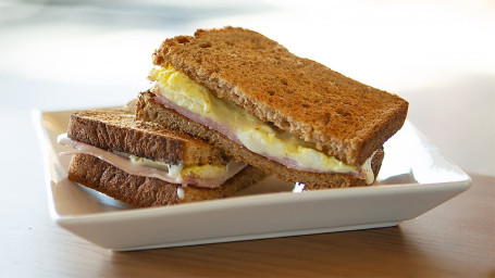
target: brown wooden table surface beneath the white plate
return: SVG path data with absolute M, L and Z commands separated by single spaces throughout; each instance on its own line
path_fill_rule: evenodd
M 495 277 L 495 177 L 472 179 L 398 227 L 135 252 L 63 230 L 33 198 L 0 230 L 0 277 Z

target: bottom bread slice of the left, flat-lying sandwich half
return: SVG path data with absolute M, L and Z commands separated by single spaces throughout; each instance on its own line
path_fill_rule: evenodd
M 247 166 L 222 186 L 209 188 L 182 187 L 157 178 L 125 173 L 88 154 L 75 154 L 69 167 L 69 179 L 95 189 L 134 207 L 150 207 L 230 197 L 264 177 L 264 173 Z M 180 198 L 181 188 L 184 198 Z

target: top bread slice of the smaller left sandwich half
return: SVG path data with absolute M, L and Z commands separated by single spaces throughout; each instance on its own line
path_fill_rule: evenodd
M 104 150 L 125 152 L 172 164 L 224 165 L 228 157 L 211 144 L 188 135 L 136 121 L 125 109 L 76 111 L 67 136 Z

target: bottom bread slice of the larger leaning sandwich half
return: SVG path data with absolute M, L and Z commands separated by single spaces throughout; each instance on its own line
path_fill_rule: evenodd
M 257 153 L 253 153 L 220 132 L 209 129 L 208 127 L 190 121 L 189 118 L 164 108 L 162 104 L 154 101 L 154 94 L 151 92 L 143 92 L 138 97 L 136 117 L 144 122 L 152 122 L 189 134 L 201 138 L 216 148 L 223 149 L 228 155 L 234 156 L 237 161 L 244 161 L 257 168 L 263 169 L 267 173 L 275 174 L 280 179 L 289 182 L 302 182 L 306 189 L 323 189 L 323 188 L 339 188 L 352 186 L 366 186 L 363 179 L 359 179 L 352 175 L 345 174 L 318 174 L 301 172 L 287 168 L 284 165 L 265 159 Z M 382 165 L 384 153 L 379 149 L 372 160 L 372 169 L 376 176 Z

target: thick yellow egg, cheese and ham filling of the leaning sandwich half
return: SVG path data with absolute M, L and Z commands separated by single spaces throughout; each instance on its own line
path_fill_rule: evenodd
M 151 91 L 157 96 L 157 102 L 219 131 L 253 153 L 288 168 L 355 175 L 369 185 L 374 181 L 371 169 L 373 155 L 360 167 L 347 165 L 318 151 L 314 144 L 248 114 L 232 101 L 215 97 L 172 66 L 153 67 L 149 78 L 154 81 Z

